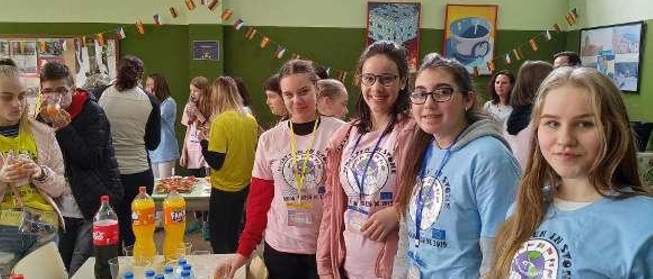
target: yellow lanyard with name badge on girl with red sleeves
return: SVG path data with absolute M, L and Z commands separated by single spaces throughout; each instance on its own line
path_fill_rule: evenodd
M 315 125 L 313 125 L 313 132 L 311 132 L 311 145 L 308 147 L 308 150 L 313 148 L 313 143 L 315 143 L 315 130 L 317 130 L 317 123 L 319 123 L 319 119 L 315 120 Z M 287 202 L 286 207 L 288 209 L 287 211 L 287 216 L 288 216 L 288 226 L 293 226 L 293 227 L 305 227 L 305 226 L 313 226 L 317 220 L 315 220 L 315 216 L 313 216 L 313 203 L 310 201 L 302 201 L 302 190 L 304 189 L 304 185 L 306 183 L 306 172 L 307 172 L 307 162 L 308 162 L 308 157 L 310 157 L 310 154 L 307 152 L 304 154 L 304 162 L 302 164 L 302 168 L 299 168 L 297 166 L 297 162 L 301 159 L 298 160 L 298 155 L 297 155 L 297 150 L 296 150 L 296 143 L 295 143 L 295 130 L 293 130 L 293 123 L 289 121 L 289 126 L 290 126 L 290 143 L 291 143 L 291 151 L 292 151 L 292 157 L 293 157 L 293 176 L 295 177 L 295 186 L 297 190 L 297 201 L 296 202 Z M 317 168 L 317 166 L 314 166 L 314 168 Z

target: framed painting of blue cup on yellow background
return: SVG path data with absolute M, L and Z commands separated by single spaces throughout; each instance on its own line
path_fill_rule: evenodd
M 496 5 L 447 5 L 443 54 L 473 72 L 490 75 L 487 63 L 494 59 Z

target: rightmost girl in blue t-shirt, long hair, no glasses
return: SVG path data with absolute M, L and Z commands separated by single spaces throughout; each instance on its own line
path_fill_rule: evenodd
M 613 81 L 591 68 L 554 70 L 532 126 L 490 278 L 653 278 L 653 198 Z

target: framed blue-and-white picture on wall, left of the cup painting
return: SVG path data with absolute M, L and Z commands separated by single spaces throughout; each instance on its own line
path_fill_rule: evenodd
M 391 40 L 408 51 L 411 72 L 419 65 L 419 3 L 368 2 L 367 45 Z

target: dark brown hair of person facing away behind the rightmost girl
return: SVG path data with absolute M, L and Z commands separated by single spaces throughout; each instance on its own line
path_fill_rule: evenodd
M 510 94 L 510 105 L 518 108 L 533 104 L 539 85 L 552 70 L 553 66 L 545 61 L 524 62 L 517 72 L 517 81 Z

